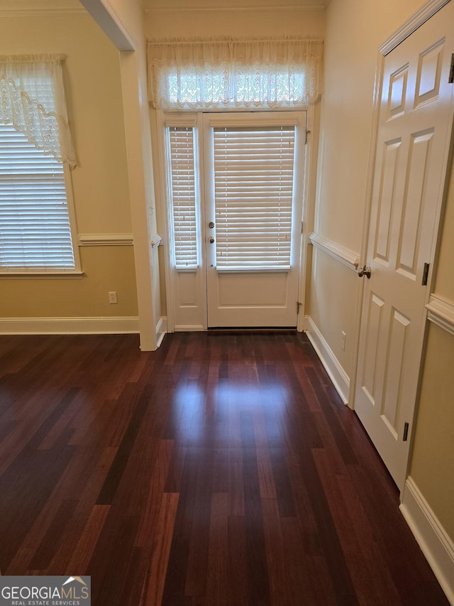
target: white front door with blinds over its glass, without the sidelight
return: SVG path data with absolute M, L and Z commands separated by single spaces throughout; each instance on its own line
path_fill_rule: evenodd
M 204 114 L 208 327 L 296 326 L 306 112 Z

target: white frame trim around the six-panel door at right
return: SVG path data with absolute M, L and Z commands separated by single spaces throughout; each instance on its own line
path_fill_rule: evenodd
M 360 249 L 360 267 L 364 266 L 367 261 L 367 242 L 369 237 L 369 222 L 370 222 L 370 211 L 372 207 L 372 188 L 374 178 L 374 166 L 375 166 L 375 155 L 377 150 L 377 137 L 378 137 L 378 124 L 380 115 L 380 99 L 382 97 L 382 80 L 384 72 L 384 59 L 394 48 L 396 48 L 406 38 L 411 36 L 414 31 L 426 23 L 435 13 L 443 6 L 448 4 L 451 0 L 428 0 L 419 11 L 414 13 L 392 36 L 380 46 L 377 55 L 377 67 L 375 70 L 375 85 L 374 85 L 374 97 L 373 97 L 373 110 L 372 110 L 372 136 L 370 138 L 369 147 L 369 162 L 367 166 L 367 182 L 366 182 L 366 204 L 365 212 L 362 222 L 362 238 L 361 238 L 361 249 Z M 437 229 L 439 224 L 437 224 Z M 435 243 L 434 243 L 435 244 Z M 431 293 L 432 278 L 433 278 L 433 261 L 435 256 L 435 246 L 433 246 L 433 254 L 430 259 L 430 272 L 428 276 L 428 288 L 426 290 L 426 298 Z M 365 282 L 358 281 L 358 288 L 356 290 L 356 301 L 355 301 L 355 319 L 353 323 L 353 342 L 355 347 L 353 348 L 352 356 L 352 374 L 350 376 L 350 390 L 348 396 L 348 405 L 350 408 L 355 408 L 355 392 L 356 382 L 358 378 L 358 354 L 360 345 L 360 325 L 361 325 L 361 310 L 362 310 L 362 298 L 364 293 Z M 424 324 L 426 320 L 424 319 Z M 422 330 L 422 329 L 421 329 Z

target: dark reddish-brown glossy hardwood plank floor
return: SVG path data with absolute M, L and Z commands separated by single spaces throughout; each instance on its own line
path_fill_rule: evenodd
M 0 570 L 95 606 L 445 605 L 304 335 L 0 337 Z

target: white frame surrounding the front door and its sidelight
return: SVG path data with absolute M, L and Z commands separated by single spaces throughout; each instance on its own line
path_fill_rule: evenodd
M 225 113 L 226 109 L 219 110 Z M 245 112 L 245 109 L 237 109 L 232 111 L 240 111 Z M 255 110 L 257 111 L 257 110 Z M 270 111 L 267 108 L 264 108 L 263 111 Z M 301 303 L 299 305 L 299 314 L 297 317 L 297 330 L 299 332 L 304 330 L 304 305 L 305 305 L 305 297 L 306 297 L 306 269 L 308 263 L 308 248 L 311 243 L 309 240 L 310 234 L 314 231 L 314 200 L 311 194 L 315 189 L 315 175 L 316 175 L 316 166 L 314 166 L 314 161 L 316 161 L 316 145 L 318 142 L 318 124 L 316 124 L 316 111 L 314 104 L 311 104 L 306 107 L 299 108 L 279 108 L 280 112 L 307 112 L 306 118 L 306 150 L 304 154 L 304 183 L 303 183 L 303 215 L 301 222 L 301 255 L 299 259 L 299 297 L 298 301 Z M 165 234 L 165 242 L 164 244 L 165 255 L 164 255 L 164 264 L 165 264 L 165 293 L 166 293 L 166 302 L 167 302 L 167 332 L 175 332 L 175 330 L 182 330 L 181 328 L 176 327 L 175 323 L 175 280 L 173 276 L 173 269 L 170 263 L 170 247 L 169 244 L 166 243 L 171 242 L 170 238 L 172 237 L 172 229 L 170 224 L 170 215 L 169 215 L 169 202 L 167 196 L 167 175 L 166 175 L 166 158 L 165 158 L 165 124 L 166 117 L 171 115 L 185 115 L 188 117 L 192 114 L 194 119 L 194 124 L 200 128 L 201 124 L 201 115 L 204 112 L 163 112 L 162 110 L 156 110 L 156 122 L 157 124 L 157 156 L 159 163 L 159 177 L 157 178 L 157 204 L 160 206 L 160 217 L 162 220 L 162 233 Z M 184 121 L 184 119 L 183 119 Z M 187 119 L 186 119 L 187 121 Z M 152 121 L 153 123 L 153 121 Z M 315 160 L 314 160 L 315 158 Z M 205 325 L 202 326 L 194 326 L 194 328 L 185 327 L 184 330 L 207 330 L 205 317 Z

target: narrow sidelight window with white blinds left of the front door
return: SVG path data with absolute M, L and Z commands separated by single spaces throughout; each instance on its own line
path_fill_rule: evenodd
M 167 136 L 175 268 L 196 269 L 199 259 L 194 127 L 170 126 Z

